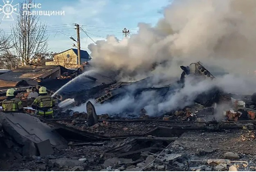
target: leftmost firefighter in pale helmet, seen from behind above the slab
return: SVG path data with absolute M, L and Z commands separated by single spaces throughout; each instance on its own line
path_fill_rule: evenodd
M 15 89 L 10 88 L 6 92 L 7 98 L 2 102 L 2 108 L 4 112 L 22 112 L 22 101 L 15 98 Z

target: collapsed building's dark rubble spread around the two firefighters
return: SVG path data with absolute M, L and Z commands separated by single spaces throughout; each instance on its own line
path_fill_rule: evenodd
M 177 80 L 155 81 L 148 77 L 129 83 L 94 71 L 48 67 L 43 74 L 36 73 L 35 67 L 27 74 L 20 69 L 0 75 L 8 84 L 2 85 L 2 94 L 7 87 L 26 94 L 22 87 L 45 86 L 58 100 L 54 119 L 34 115 L 31 107 L 24 107 L 24 113 L 0 112 L 1 170 L 256 169 L 256 162 L 251 161 L 255 156 L 251 145 L 256 142 L 256 110 L 251 97 L 225 93 L 218 86 L 192 98 L 182 93 L 185 78 L 193 76 L 193 81 L 200 82 L 216 79 L 200 62 L 181 66 Z M 8 79 L 8 73 L 15 79 Z M 175 107 L 169 111 L 158 111 L 157 104 L 146 103 L 152 99 L 168 103 L 177 94 L 180 96 L 175 99 Z M 119 113 L 97 113 L 97 108 L 127 96 L 137 105 L 127 104 Z M 142 101 L 147 96 L 147 101 Z M 184 104 L 186 100 L 188 104 Z M 229 107 L 222 110 L 223 102 Z M 159 108 L 158 114 L 150 115 L 148 105 Z M 77 108 L 83 110 L 75 111 Z

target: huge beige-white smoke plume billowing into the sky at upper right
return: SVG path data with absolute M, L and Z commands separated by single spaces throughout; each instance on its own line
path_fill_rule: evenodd
M 101 69 L 121 70 L 120 78 L 145 75 L 155 62 L 170 61 L 162 68 L 177 75 L 177 62 L 202 61 L 229 72 L 254 71 L 256 48 L 255 0 L 174 0 L 157 26 L 139 23 L 137 34 L 119 41 L 89 45 Z

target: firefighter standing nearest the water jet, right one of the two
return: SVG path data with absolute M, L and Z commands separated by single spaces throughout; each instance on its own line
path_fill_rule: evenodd
M 38 114 L 44 118 L 53 118 L 54 98 L 47 95 L 47 89 L 40 87 L 39 96 L 32 103 L 32 108 L 38 110 Z

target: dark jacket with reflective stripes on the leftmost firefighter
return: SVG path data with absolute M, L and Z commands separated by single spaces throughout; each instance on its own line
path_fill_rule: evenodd
M 23 108 L 22 101 L 18 98 L 12 98 L 10 100 L 4 100 L 2 102 L 2 108 L 4 111 L 18 112 Z

